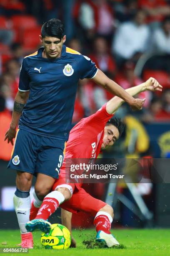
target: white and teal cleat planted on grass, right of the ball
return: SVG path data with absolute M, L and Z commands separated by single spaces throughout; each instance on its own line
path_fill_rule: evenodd
M 107 234 L 104 231 L 98 231 L 96 235 L 96 241 L 105 243 L 107 247 L 119 246 L 119 242 L 112 234 Z

